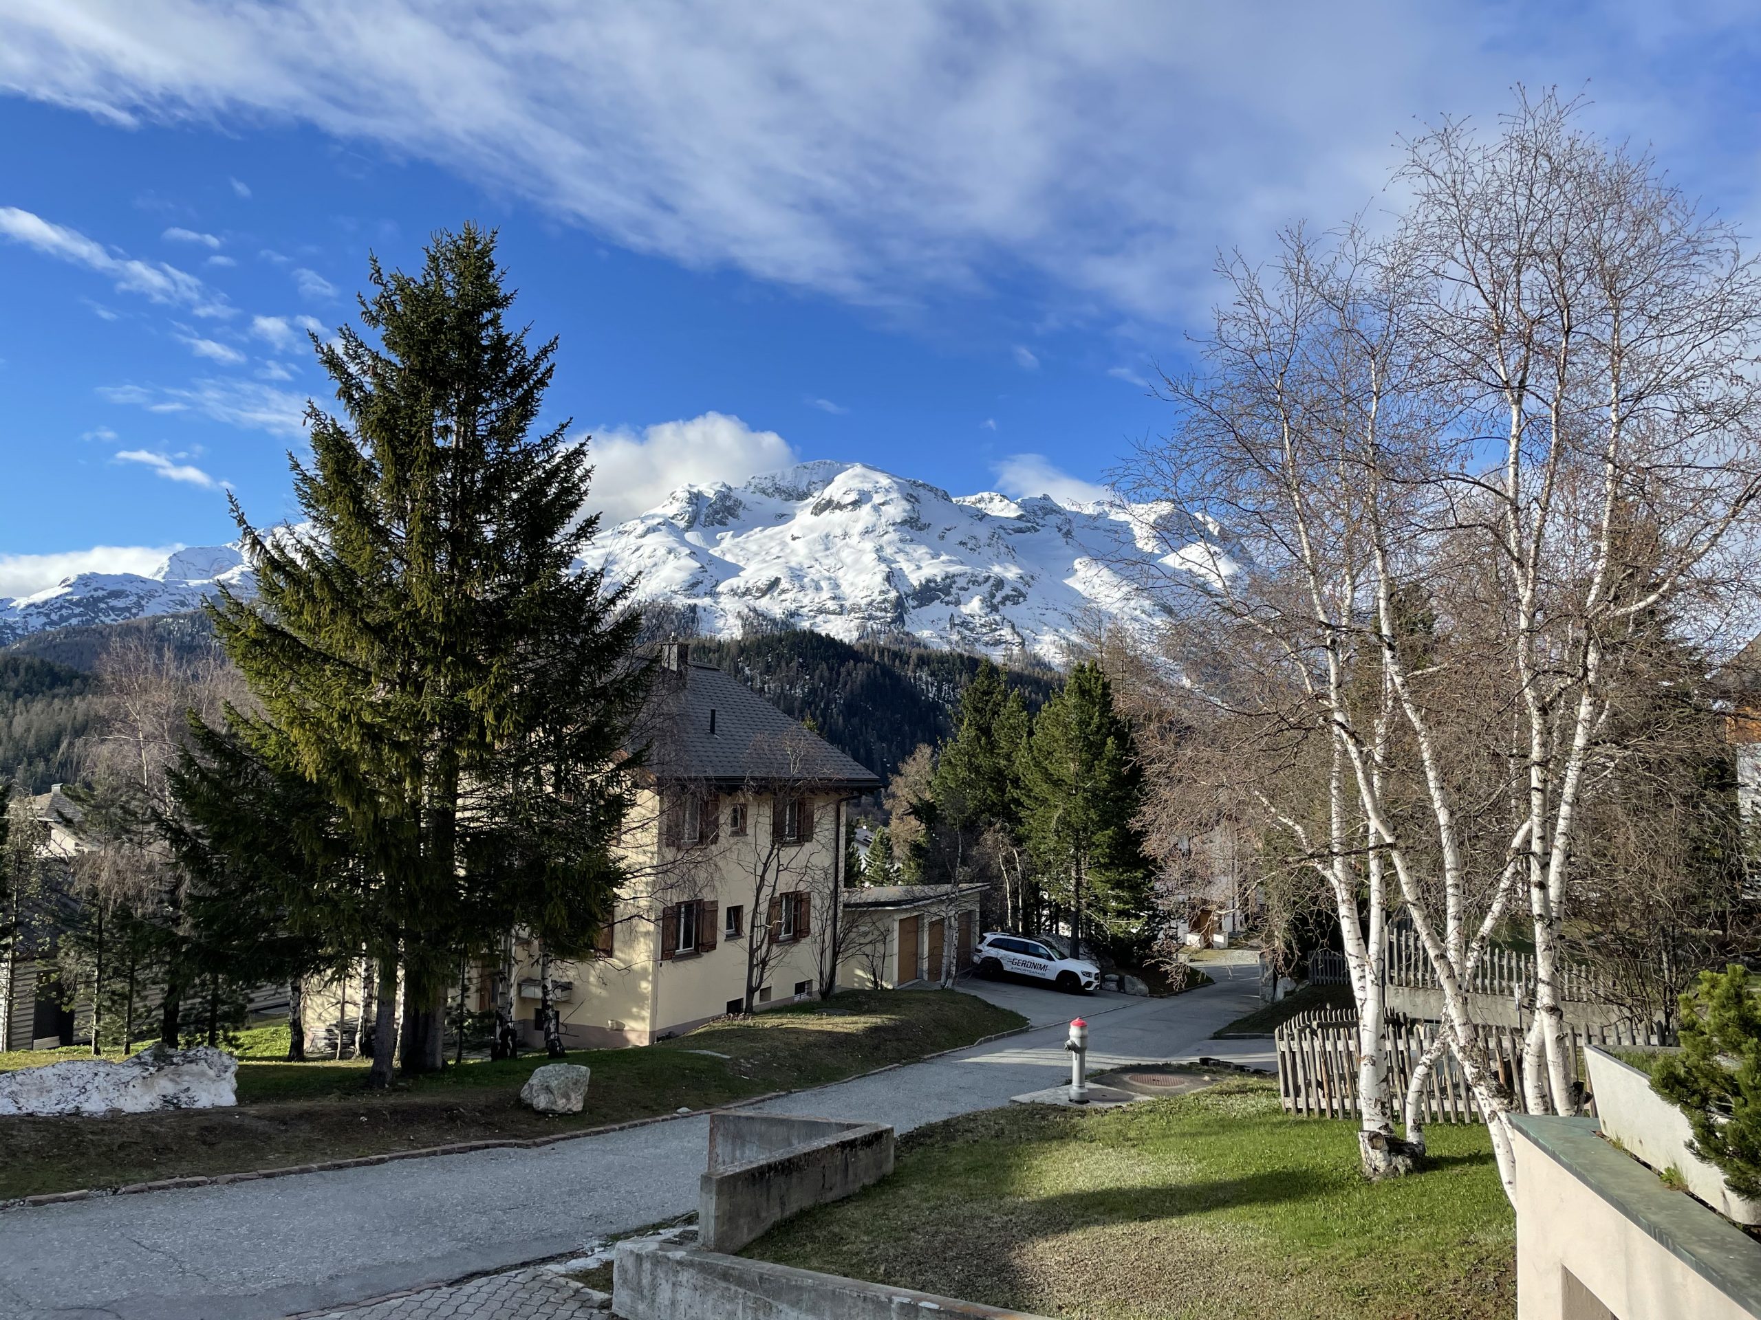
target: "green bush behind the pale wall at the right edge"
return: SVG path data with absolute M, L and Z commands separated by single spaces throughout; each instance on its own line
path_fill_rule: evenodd
M 1682 1052 L 1659 1060 L 1652 1089 L 1687 1114 L 1694 1155 L 1761 1199 L 1761 1000 L 1745 968 L 1701 972 L 1682 996 Z

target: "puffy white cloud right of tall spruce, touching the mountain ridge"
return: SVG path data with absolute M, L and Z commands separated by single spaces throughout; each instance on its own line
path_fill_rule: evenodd
M 588 507 L 604 510 L 606 526 L 648 512 L 680 486 L 741 482 L 796 461 L 794 447 L 775 431 L 754 431 L 720 412 L 641 431 L 602 429 L 588 444 L 588 454 L 593 459 Z

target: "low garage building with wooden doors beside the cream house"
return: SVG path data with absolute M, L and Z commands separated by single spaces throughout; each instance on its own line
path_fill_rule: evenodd
M 972 968 L 986 885 L 872 885 L 845 889 L 838 984 L 893 989 L 940 982 L 944 968 Z

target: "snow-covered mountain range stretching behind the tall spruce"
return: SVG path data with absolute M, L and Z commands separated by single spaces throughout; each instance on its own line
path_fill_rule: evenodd
M 683 486 L 602 530 L 588 554 L 639 595 L 696 607 L 697 630 L 750 620 L 854 641 L 910 634 L 932 646 L 1064 658 L 1083 616 L 1148 627 L 1139 570 L 1180 567 L 1115 503 L 951 496 L 863 463 L 801 463 L 741 486 Z M 195 609 L 218 583 L 252 590 L 239 546 L 183 549 L 148 576 L 79 574 L 0 600 L 0 642 L 74 623 Z

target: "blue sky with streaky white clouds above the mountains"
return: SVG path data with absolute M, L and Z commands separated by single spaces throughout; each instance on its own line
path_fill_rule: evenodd
M 1754 232 L 1750 14 L 11 0 L 0 597 L 227 540 L 227 488 L 294 516 L 305 327 L 465 218 L 611 516 L 798 458 L 1083 495 L 1162 426 L 1219 248 L 1386 209 L 1398 136 L 1513 83 Z

